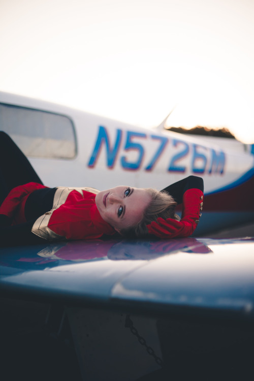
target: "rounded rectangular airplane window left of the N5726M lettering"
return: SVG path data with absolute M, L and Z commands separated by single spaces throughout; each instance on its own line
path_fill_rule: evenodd
M 10 135 L 26 156 L 76 156 L 74 125 L 65 115 L 0 103 L 0 130 Z

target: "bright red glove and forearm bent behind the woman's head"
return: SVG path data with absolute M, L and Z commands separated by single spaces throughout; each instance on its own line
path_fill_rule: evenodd
M 188 237 L 197 228 L 201 210 L 203 207 L 204 194 L 202 190 L 192 188 L 186 190 L 183 195 L 182 218 L 177 221 L 173 218 L 166 220 L 159 217 L 147 225 L 148 232 L 158 238 Z

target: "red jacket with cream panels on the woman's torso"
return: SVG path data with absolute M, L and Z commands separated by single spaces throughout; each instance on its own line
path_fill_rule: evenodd
M 26 221 L 25 202 L 28 196 L 46 186 L 30 182 L 13 188 L 0 207 L 0 214 L 12 219 L 12 225 Z M 104 221 L 97 209 L 93 188 L 58 187 L 52 209 L 36 220 L 32 232 L 47 240 L 100 238 L 115 230 Z

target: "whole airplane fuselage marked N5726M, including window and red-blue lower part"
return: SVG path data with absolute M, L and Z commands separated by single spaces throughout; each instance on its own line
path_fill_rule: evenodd
M 205 224 L 200 233 L 253 220 L 253 145 L 242 144 L 242 149 L 233 150 L 221 144 L 221 139 L 216 144 L 214 139 L 210 142 L 209 138 L 144 129 L 4 92 L 0 92 L 0 122 L 1 130 L 20 146 L 47 186 L 107 189 L 124 184 L 160 190 L 196 175 L 204 179 L 208 201 L 207 208 L 204 203 Z M 73 150 L 70 155 L 68 147 Z M 244 202 L 239 207 L 241 195 L 248 207 Z M 226 200 L 222 204 L 220 196 Z

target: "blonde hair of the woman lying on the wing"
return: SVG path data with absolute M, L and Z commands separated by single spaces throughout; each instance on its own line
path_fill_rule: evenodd
M 153 188 L 145 188 L 151 196 L 151 201 L 144 211 L 143 218 L 134 227 L 122 229 L 121 234 L 125 237 L 146 237 L 148 236 L 147 225 L 156 221 L 158 217 L 164 219 L 173 218 L 179 220 L 175 214 L 177 202 L 167 192 L 159 192 Z

